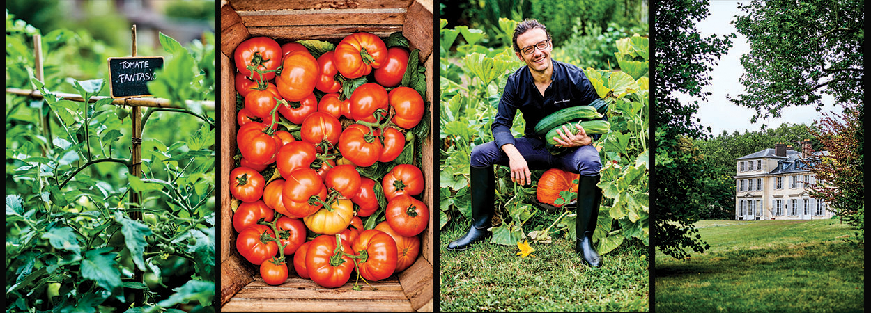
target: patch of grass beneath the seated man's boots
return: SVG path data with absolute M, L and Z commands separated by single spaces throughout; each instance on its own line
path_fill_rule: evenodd
M 540 214 L 524 226 L 527 233 L 558 216 Z M 602 256 L 603 267 L 591 269 L 564 232 L 554 235 L 553 243 L 530 243 L 535 252 L 526 257 L 517 256 L 517 245 L 489 242 L 462 252 L 446 250 L 468 228 L 468 222 L 451 222 L 439 235 L 442 311 L 648 311 L 649 257 L 638 241 L 627 240 Z

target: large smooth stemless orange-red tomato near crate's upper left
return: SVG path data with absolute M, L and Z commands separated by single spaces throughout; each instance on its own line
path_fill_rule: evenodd
M 318 61 L 308 51 L 291 51 L 284 57 L 281 75 L 275 79 L 278 91 L 287 101 L 300 101 L 314 91 L 321 77 Z

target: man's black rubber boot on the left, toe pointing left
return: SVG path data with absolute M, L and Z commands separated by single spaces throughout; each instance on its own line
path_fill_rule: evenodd
M 490 236 L 490 218 L 493 217 L 493 198 L 496 196 L 496 178 L 493 166 L 469 168 L 469 185 L 472 196 L 472 227 L 469 233 L 448 244 L 449 251 L 463 251 L 472 244 Z

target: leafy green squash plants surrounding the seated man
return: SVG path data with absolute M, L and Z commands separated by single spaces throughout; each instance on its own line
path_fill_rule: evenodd
M 451 220 L 470 218 L 469 154 L 477 144 L 493 140 L 490 122 L 496 115 L 508 74 L 523 65 L 510 46 L 494 50 L 476 45 L 485 35 L 457 27 L 446 29 L 440 21 L 440 228 Z M 500 19 L 500 28 L 509 36 L 517 21 Z M 467 33 L 472 36 L 466 38 Z M 458 37 L 465 44 L 454 45 Z M 617 248 L 625 238 L 634 237 L 648 244 L 649 165 L 647 142 L 649 132 L 649 91 L 647 75 L 648 40 L 628 37 L 615 47 L 621 68 L 626 71 L 588 68 L 584 73 L 600 97 L 609 104 L 606 112 L 611 131 L 594 145 L 600 149 L 604 164 L 599 187 L 604 201 L 599 209 L 594 240 L 600 254 Z M 456 50 L 456 52 L 455 52 Z M 525 122 L 517 112 L 512 133 L 523 135 Z M 538 180 L 542 171 L 533 171 Z M 566 210 L 545 230 L 529 233 L 523 225 L 536 215 L 531 204 L 536 199 L 537 182 L 523 187 L 510 182 L 509 170 L 496 166 L 496 222 L 492 243 L 515 245 L 530 239 L 550 243 L 550 235 L 565 231 L 575 236 L 575 212 Z M 575 182 L 577 183 L 577 181 Z M 567 203 L 573 193 L 564 191 L 556 203 Z M 501 222 L 499 222 L 501 221 Z M 550 229 L 556 227 L 556 230 Z

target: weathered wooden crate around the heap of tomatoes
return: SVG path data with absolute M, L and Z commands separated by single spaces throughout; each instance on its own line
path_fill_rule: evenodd
M 422 171 L 427 188 L 422 201 L 429 206 L 429 227 L 421 238 L 421 256 L 408 270 L 372 283 L 378 291 L 349 290 L 345 286 L 325 289 L 291 270 L 287 283 L 270 286 L 260 278 L 258 268 L 235 250 L 231 199 L 220 192 L 220 303 L 221 311 L 432 311 L 434 295 L 433 251 L 437 211 L 434 173 L 433 132 L 436 130 L 436 102 L 433 56 L 433 2 L 431 0 L 339 0 L 288 1 L 223 0 L 221 3 L 221 105 L 220 105 L 220 188 L 229 190 L 229 173 L 236 150 L 236 91 L 233 50 L 250 37 L 272 37 L 279 43 L 317 39 L 338 43 L 349 34 L 366 31 L 386 38 L 402 31 L 411 49 L 421 50 L 429 86 L 430 137 L 423 143 Z M 293 269 L 293 267 L 291 267 Z M 362 283 L 362 282 L 361 282 Z

